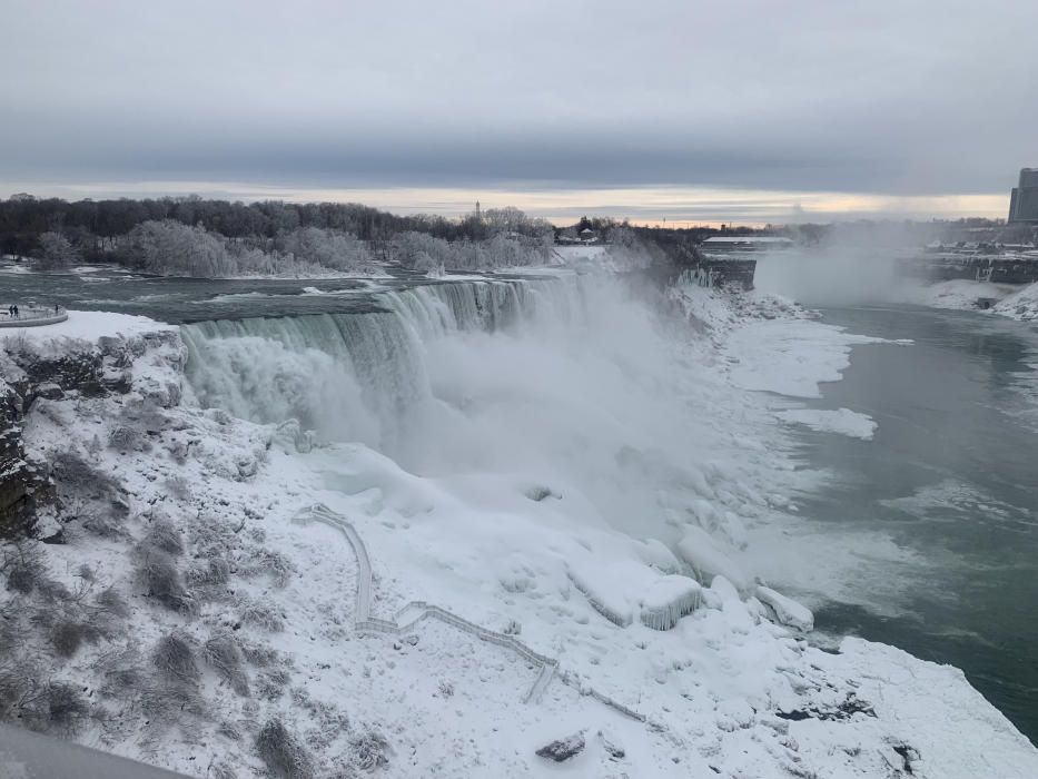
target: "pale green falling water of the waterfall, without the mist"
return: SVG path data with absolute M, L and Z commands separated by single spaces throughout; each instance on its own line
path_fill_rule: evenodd
M 433 395 L 427 347 L 466 332 L 567 321 L 574 279 L 466 280 L 382 293 L 382 310 L 202 322 L 182 327 L 205 406 L 259 423 L 296 418 L 318 437 L 396 452 Z

